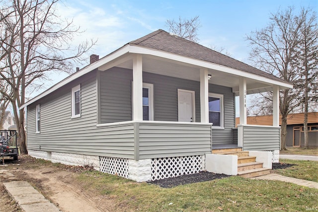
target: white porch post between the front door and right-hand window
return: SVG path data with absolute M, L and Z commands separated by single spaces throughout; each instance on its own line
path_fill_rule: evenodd
M 201 123 L 209 123 L 209 82 L 208 70 L 200 69 Z

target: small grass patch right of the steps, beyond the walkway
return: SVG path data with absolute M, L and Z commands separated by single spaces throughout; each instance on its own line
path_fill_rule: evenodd
M 318 183 L 318 162 L 312 160 L 289 160 L 280 159 L 280 162 L 296 164 L 286 169 L 275 169 L 274 173 L 287 177 L 310 180 Z

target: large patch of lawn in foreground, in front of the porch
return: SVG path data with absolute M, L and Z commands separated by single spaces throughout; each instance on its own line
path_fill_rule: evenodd
M 237 176 L 169 189 L 95 171 L 81 173 L 77 181 L 111 199 L 111 211 L 306 211 L 318 202 L 317 189 Z

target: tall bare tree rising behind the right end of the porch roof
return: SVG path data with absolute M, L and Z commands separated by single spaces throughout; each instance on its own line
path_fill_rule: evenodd
M 293 89 L 280 92 L 282 149 L 286 149 L 287 115 L 300 105 L 297 97 L 303 90 L 303 86 L 297 81 L 301 77 L 301 72 L 293 62 L 298 57 L 298 47 L 302 42 L 304 14 L 294 13 L 293 7 L 285 11 L 278 10 L 277 13 L 271 14 L 267 27 L 252 32 L 247 37 L 252 46 L 250 60 L 255 66 L 294 83 Z

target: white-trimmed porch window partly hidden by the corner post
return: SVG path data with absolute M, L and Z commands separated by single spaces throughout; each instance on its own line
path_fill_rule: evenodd
M 154 85 L 143 83 L 143 120 L 154 120 Z

